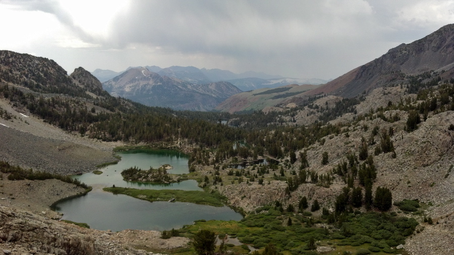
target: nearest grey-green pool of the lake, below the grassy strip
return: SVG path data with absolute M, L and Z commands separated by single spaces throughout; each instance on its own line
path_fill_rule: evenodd
M 85 222 L 98 230 L 170 230 L 195 220 L 241 220 L 228 206 L 214 207 L 183 202 L 148 202 L 126 195 L 93 190 L 86 196 L 60 202 L 56 211 L 62 219 Z

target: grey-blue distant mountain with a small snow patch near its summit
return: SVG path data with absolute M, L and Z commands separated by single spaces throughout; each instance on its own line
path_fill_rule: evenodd
M 103 83 L 110 95 L 148 106 L 176 110 L 210 111 L 220 102 L 241 91 L 229 82 L 194 84 L 161 76 L 147 68 L 131 68 Z

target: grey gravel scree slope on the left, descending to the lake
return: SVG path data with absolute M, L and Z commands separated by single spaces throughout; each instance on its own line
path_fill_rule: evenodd
M 0 107 L 15 117 L 0 119 L 0 160 L 65 175 L 90 172 L 100 163 L 116 160 L 112 148 L 121 143 L 69 134 L 24 109 L 11 107 L 5 100 L 0 99 Z

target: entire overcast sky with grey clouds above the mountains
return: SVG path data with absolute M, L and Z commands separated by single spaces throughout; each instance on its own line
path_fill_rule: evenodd
M 0 0 L 0 49 L 115 71 L 172 65 L 329 79 L 454 22 L 454 1 Z

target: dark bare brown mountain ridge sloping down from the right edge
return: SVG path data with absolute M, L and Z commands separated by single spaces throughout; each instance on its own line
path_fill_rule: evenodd
M 452 69 L 454 62 L 454 24 L 409 44 L 390 49 L 381 57 L 359 66 L 306 95 L 332 94 L 352 98 L 388 84 L 399 84 L 407 75 Z M 445 67 L 445 68 L 444 68 Z M 443 75 L 443 78 L 452 77 Z

